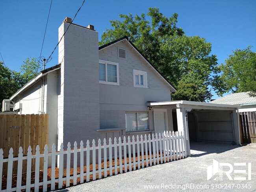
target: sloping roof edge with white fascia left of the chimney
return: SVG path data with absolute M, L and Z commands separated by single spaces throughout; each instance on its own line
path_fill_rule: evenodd
M 18 96 L 20 93 L 24 92 L 26 89 L 28 89 L 30 86 L 32 86 L 34 83 L 39 81 L 43 76 L 46 74 L 55 71 L 60 68 L 61 64 L 46 68 L 45 70 L 42 70 L 37 76 L 35 76 L 33 79 L 31 79 L 26 85 L 24 85 L 20 90 L 18 90 L 13 96 L 11 96 L 10 100 L 13 100 L 16 96 Z

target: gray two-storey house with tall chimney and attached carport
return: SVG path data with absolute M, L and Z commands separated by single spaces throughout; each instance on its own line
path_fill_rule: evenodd
M 93 26 L 70 21 L 59 27 L 59 64 L 10 98 L 19 114 L 49 114 L 49 145 L 177 130 L 188 152 L 189 135 L 239 144 L 238 105 L 171 101 L 173 85 L 127 37 L 99 47 Z

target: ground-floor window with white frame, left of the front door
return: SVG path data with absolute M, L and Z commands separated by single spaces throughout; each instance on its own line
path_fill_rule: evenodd
M 126 131 L 148 130 L 148 113 L 125 113 Z

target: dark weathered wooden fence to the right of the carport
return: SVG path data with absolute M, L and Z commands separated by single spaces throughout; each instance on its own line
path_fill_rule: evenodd
M 240 124 L 243 143 L 256 143 L 256 111 L 241 112 Z

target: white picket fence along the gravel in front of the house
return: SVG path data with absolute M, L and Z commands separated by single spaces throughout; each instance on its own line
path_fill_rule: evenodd
M 9 156 L 7 159 L 3 158 L 3 150 L 0 149 L 0 175 L 2 175 L 2 169 L 4 162 L 7 162 L 7 184 L 6 188 L 2 191 L 20 191 L 26 189 L 30 191 L 34 187 L 35 191 L 39 191 L 39 186 L 43 186 L 43 191 L 47 191 L 47 185 L 50 184 L 50 189 L 55 190 L 55 183 L 58 183 L 58 188 L 63 187 L 63 181 L 66 181 L 66 186 L 70 186 L 70 179 L 73 180 L 73 185 L 77 184 L 77 178 L 80 179 L 80 183 L 83 183 L 84 176 L 86 176 L 86 182 L 90 181 L 90 175 L 92 175 L 92 180 L 101 179 L 102 177 L 108 177 L 118 173 L 124 173 L 127 171 L 132 171 L 156 165 L 162 164 L 165 162 L 175 161 L 178 159 L 184 159 L 187 157 L 186 150 L 186 140 L 183 133 L 169 132 L 163 134 L 152 134 L 150 135 L 141 135 L 141 138 L 137 136 L 130 136 L 128 139 L 126 137 L 117 141 L 117 138 L 114 138 L 112 144 L 111 138 L 107 144 L 106 138 L 104 138 L 103 145 L 101 140 L 98 140 L 98 145 L 96 146 L 95 140 L 93 140 L 92 145 L 90 146 L 89 140 L 87 140 L 86 147 L 83 146 L 83 141 L 80 143 L 80 148 L 77 148 L 77 143 L 74 142 L 74 148 L 71 150 L 70 142 L 67 145 L 67 150 L 63 149 L 63 144 L 61 144 L 60 151 L 56 151 L 56 146 L 53 144 L 52 152 L 48 152 L 48 146 L 45 145 L 44 153 L 39 152 L 39 146 L 36 148 L 36 153 L 32 155 L 31 147 L 28 148 L 28 154 L 26 156 L 22 153 L 22 148 L 19 148 L 18 157 L 13 157 L 13 149 L 9 150 Z M 77 173 L 74 171 L 73 175 L 70 175 L 70 156 L 73 153 L 73 163 L 72 166 L 74 170 L 77 170 L 77 163 L 80 161 L 80 165 L 86 166 L 86 172 Z M 136 155 L 136 153 L 138 155 Z M 141 153 L 141 159 L 140 159 Z M 144 156 L 145 154 L 145 156 Z M 80 158 L 78 158 L 80 155 Z M 84 161 L 84 155 L 86 161 Z M 92 170 L 90 170 L 90 156 L 92 155 Z M 59 177 L 55 178 L 55 168 L 56 168 L 56 158 L 59 156 Z M 137 157 L 135 161 L 135 157 Z M 40 158 L 43 157 L 43 181 L 39 182 L 39 162 Z M 51 157 L 51 158 L 48 158 Z M 66 158 L 64 158 L 66 157 Z M 120 159 L 119 159 L 120 158 Z M 35 159 L 35 182 L 31 183 L 31 165 L 32 159 Z M 51 159 L 51 179 L 47 177 L 48 169 L 48 159 Z M 66 162 L 63 160 L 65 159 Z M 97 162 L 96 162 L 97 159 Z M 27 161 L 26 166 L 26 185 L 22 185 L 22 160 Z M 109 163 L 108 166 L 108 160 Z M 122 162 L 123 160 L 123 162 Z M 133 161 L 132 161 L 133 160 Z M 17 184 L 16 187 L 12 187 L 12 177 L 13 177 L 13 162 L 18 161 L 18 170 L 17 170 Z M 23 161 L 24 162 L 24 161 Z M 102 168 L 102 163 L 104 163 L 104 168 Z M 98 164 L 98 169 L 96 169 L 96 164 Z M 66 169 L 63 167 L 66 166 Z M 81 166 L 82 167 L 82 166 Z M 66 176 L 63 176 L 64 170 L 66 170 Z M 109 175 L 108 175 L 109 173 Z M 3 178 L 3 177 L 2 177 Z M 0 189 L 2 189 L 2 182 L 0 183 Z

